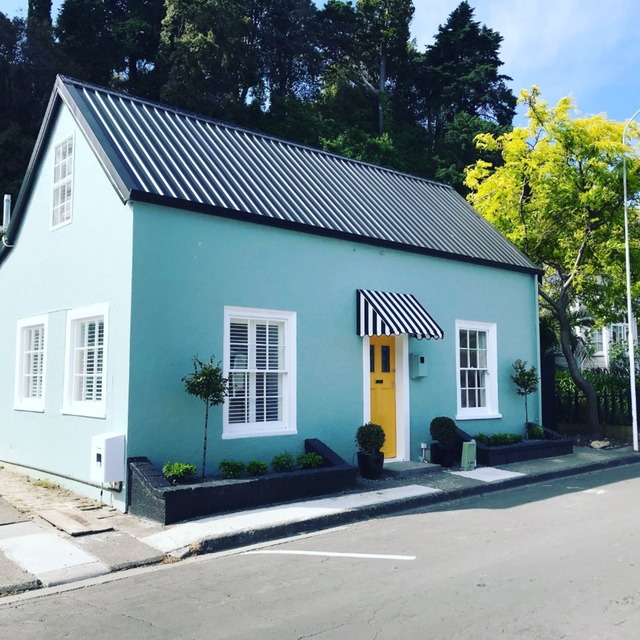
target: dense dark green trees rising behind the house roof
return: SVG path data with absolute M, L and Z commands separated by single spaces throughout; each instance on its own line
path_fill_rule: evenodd
M 502 37 L 464 1 L 419 51 L 413 13 L 412 0 L 64 0 L 55 22 L 50 0 L 31 0 L 26 19 L 0 13 L 0 190 L 17 195 L 63 74 L 462 192 L 464 167 L 493 157 L 474 136 L 514 115 Z

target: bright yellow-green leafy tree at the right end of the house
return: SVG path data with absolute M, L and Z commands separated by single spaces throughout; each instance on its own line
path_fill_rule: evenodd
M 467 185 L 475 208 L 544 271 L 542 311 L 558 327 L 562 353 L 584 393 L 588 425 L 599 435 L 597 398 L 572 349 L 572 309 L 583 305 L 599 324 L 624 312 L 625 257 L 622 158 L 623 125 L 604 116 L 572 117 L 563 98 L 549 108 L 534 87 L 523 91 L 526 127 L 500 136 L 479 136 L 482 149 L 499 152 L 503 164 L 478 161 Z M 637 135 L 631 127 L 632 137 Z M 629 157 L 629 193 L 640 195 L 640 161 Z M 640 226 L 632 208 L 633 269 L 638 273 Z M 634 283 L 638 299 L 640 283 Z

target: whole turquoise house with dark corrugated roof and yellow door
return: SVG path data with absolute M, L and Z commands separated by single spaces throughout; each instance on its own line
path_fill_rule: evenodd
M 352 461 L 369 420 L 389 460 L 439 415 L 523 430 L 539 271 L 448 186 L 58 78 L 4 240 L 0 460 L 88 495 L 114 456 L 198 465 L 196 354 L 230 385 L 211 474 Z

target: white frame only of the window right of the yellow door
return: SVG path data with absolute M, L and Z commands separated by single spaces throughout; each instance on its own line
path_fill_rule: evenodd
M 460 331 L 484 331 L 487 334 L 487 367 L 485 373 L 486 406 L 463 407 L 460 385 Z M 498 408 L 498 349 L 497 326 L 490 322 L 456 320 L 456 404 L 457 420 L 501 418 Z

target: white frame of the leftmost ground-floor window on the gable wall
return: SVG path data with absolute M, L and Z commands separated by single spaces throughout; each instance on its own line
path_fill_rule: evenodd
M 41 330 L 40 349 L 31 350 L 28 345 L 29 333 Z M 18 321 L 16 337 L 16 373 L 14 409 L 17 411 L 44 411 L 45 380 L 47 370 L 47 341 L 49 333 L 49 316 L 33 316 Z M 34 362 L 34 357 L 35 361 Z M 39 356 L 39 357 L 37 357 Z M 34 371 L 34 364 L 37 371 Z M 32 396 L 32 385 L 25 386 L 26 377 L 39 379 L 36 382 L 38 393 Z

